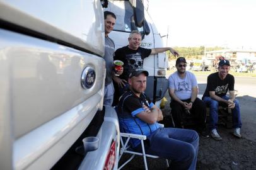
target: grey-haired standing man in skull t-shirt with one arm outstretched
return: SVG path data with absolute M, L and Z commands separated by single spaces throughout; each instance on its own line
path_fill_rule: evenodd
M 129 35 L 129 45 L 119 48 L 115 51 L 114 60 L 121 60 L 124 62 L 124 72 L 121 76 L 115 77 L 114 81 L 118 84 L 120 93 L 124 93 L 125 86 L 128 85 L 127 81 L 132 69 L 143 68 L 143 60 L 151 54 L 158 54 L 170 50 L 173 55 L 178 56 L 178 52 L 171 47 L 165 48 L 143 48 L 141 46 L 141 33 L 137 30 L 132 31 Z

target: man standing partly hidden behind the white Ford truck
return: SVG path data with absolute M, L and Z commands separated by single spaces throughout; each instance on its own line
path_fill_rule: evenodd
M 104 99 L 103 105 L 111 106 L 113 103 L 113 54 L 115 52 L 115 43 L 111 38 L 108 37 L 108 34 L 113 30 L 115 25 L 116 16 L 110 11 L 104 12 L 105 20 L 105 55 L 104 59 L 106 62 L 106 78 L 105 78 L 105 88 L 104 88 Z M 123 69 L 120 70 L 118 74 L 122 74 Z

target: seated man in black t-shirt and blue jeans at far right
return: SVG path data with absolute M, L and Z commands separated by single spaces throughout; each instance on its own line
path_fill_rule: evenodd
M 221 140 L 221 136 L 217 132 L 218 123 L 218 106 L 226 105 L 232 109 L 233 116 L 233 135 L 241 138 L 241 117 L 238 100 L 235 99 L 234 84 L 235 78 L 230 71 L 230 61 L 220 60 L 218 65 L 218 72 L 212 73 L 207 77 L 207 86 L 203 101 L 210 107 L 210 122 L 209 128 L 211 130 L 211 137 L 215 140 Z M 230 91 L 230 96 L 226 93 Z

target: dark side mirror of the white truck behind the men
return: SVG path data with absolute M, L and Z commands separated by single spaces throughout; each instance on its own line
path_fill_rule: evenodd
M 135 25 L 139 28 L 143 26 L 144 22 L 144 6 L 141 0 L 136 0 L 136 7 L 133 5 Z

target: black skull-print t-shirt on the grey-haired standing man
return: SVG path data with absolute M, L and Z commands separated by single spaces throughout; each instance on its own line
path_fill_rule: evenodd
M 139 47 L 137 50 L 132 50 L 127 46 L 119 48 L 115 51 L 114 60 L 124 62 L 124 72 L 120 75 L 120 79 L 129 78 L 132 69 L 143 68 L 143 60 L 151 54 L 151 49 Z

